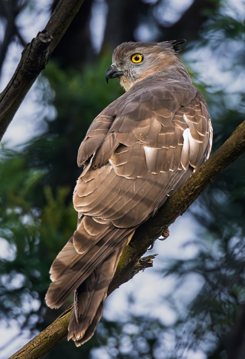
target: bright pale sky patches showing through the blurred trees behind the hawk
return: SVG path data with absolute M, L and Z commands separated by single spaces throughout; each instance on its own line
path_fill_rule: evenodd
M 162 22 L 171 23 L 176 21 L 191 3 L 191 0 L 171 1 L 169 7 L 165 9 L 165 12 L 160 14 L 162 16 Z M 30 42 L 32 38 L 36 37 L 38 31 L 41 31 L 45 27 L 45 24 L 50 17 L 50 14 L 48 13 L 50 0 L 37 1 L 33 4 L 34 7 L 32 9 L 26 9 L 18 18 L 18 23 L 22 27 L 23 37 L 27 42 Z M 238 12 L 239 16 L 245 17 L 244 1 L 227 0 L 227 4 L 230 4 L 228 10 L 224 11 L 229 11 L 230 14 L 232 14 L 232 12 Z M 175 6 L 179 9 L 179 13 L 173 10 L 175 9 Z M 91 19 L 93 42 L 94 47 L 97 50 L 103 39 L 103 29 L 105 25 L 104 14 L 106 13 L 107 6 L 105 2 L 103 0 L 98 0 L 96 6 L 93 8 L 93 17 Z M 34 22 L 33 14 L 36 14 Z M 3 30 L 3 28 L 0 25 L 0 38 L 2 36 L 1 30 Z M 149 36 L 147 29 L 140 28 L 138 31 L 141 32 L 141 36 L 147 41 L 147 36 Z M 226 44 L 223 46 L 226 46 Z M 23 48 L 15 43 L 12 43 L 10 46 L 3 67 L 3 76 L 0 80 L 0 92 L 4 89 L 13 75 L 20 60 L 22 50 Z M 194 71 L 197 71 L 200 74 L 201 80 L 206 83 L 211 83 L 213 79 L 215 79 L 218 86 L 221 88 L 227 87 L 229 88 L 229 92 L 234 92 L 234 104 L 239 102 L 239 98 L 236 97 L 235 92 L 241 87 L 244 88 L 245 83 L 244 75 L 239 76 L 239 69 L 237 69 L 237 78 L 235 78 L 234 84 L 230 87 L 229 84 L 231 82 L 232 74 L 229 71 L 223 71 L 226 66 L 226 59 L 217 59 L 217 57 L 213 56 L 213 52 L 211 56 L 211 50 L 208 46 L 197 49 L 195 52 L 185 53 L 182 55 L 182 58 L 184 59 L 185 64 L 189 65 Z M 50 118 L 55 116 L 55 109 L 52 106 L 43 108 L 42 105 L 38 104 L 39 94 L 40 89 L 36 83 L 25 97 L 14 120 L 4 135 L 3 140 L 7 146 L 18 148 L 19 145 L 43 131 L 44 127 L 40 113 L 43 113 L 43 117 L 44 115 L 50 116 Z M 76 214 L 74 213 L 74 215 Z M 203 280 L 201 276 L 193 274 L 189 275 L 188 278 L 183 278 L 182 281 L 177 282 L 174 276 L 171 278 L 163 278 L 160 269 L 164 267 L 165 262 L 169 258 L 181 258 L 184 260 L 196 256 L 198 251 L 197 246 L 187 243 L 192 239 L 199 238 L 202 240 L 204 232 L 201 232 L 202 229 L 200 228 L 200 225 L 195 222 L 190 214 L 188 214 L 188 211 L 182 217 L 178 218 L 170 227 L 170 237 L 163 242 L 156 241 L 155 247 L 149 251 L 149 254 L 159 254 L 154 260 L 154 268 L 146 269 L 144 272 L 137 274 L 132 280 L 122 285 L 110 295 L 105 303 L 104 316 L 108 320 L 115 320 L 115 318 L 118 318 L 118 320 L 127 321 L 128 313 L 144 313 L 153 318 L 160 318 L 162 323 L 166 325 L 174 323 L 177 314 L 170 308 L 165 298 L 168 297 L 170 293 L 174 292 L 173 299 L 178 311 L 184 313 L 185 307 L 189 301 L 202 288 Z M 8 255 L 8 249 L 5 241 L 0 241 L 0 252 L 2 256 L 4 255 L 3 253 L 5 253 L 5 256 Z M 174 291 L 173 288 L 175 288 Z M 129 295 L 133 296 L 134 302 L 128 307 L 127 297 Z M 36 306 L 37 304 L 38 303 L 33 301 L 33 306 Z M 12 338 L 14 340 L 11 341 L 11 345 L 8 345 L 4 350 L 0 350 L 0 359 L 8 358 L 9 355 L 13 354 L 31 339 L 29 331 L 21 331 L 17 322 L 10 321 L 6 323 L 5 321 L 0 321 L 0 348 Z M 171 336 L 166 336 L 162 339 L 162 343 L 165 346 L 169 346 L 169 349 L 171 349 L 171 345 L 174 345 L 174 340 L 171 339 Z M 107 359 L 107 355 L 102 355 L 100 352 L 98 358 Z M 183 358 L 205 359 L 206 355 L 202 353 L 202 351 L 193 353 L 192 351 L 187 350 Z

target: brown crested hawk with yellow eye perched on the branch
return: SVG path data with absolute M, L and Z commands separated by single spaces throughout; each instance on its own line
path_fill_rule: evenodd
M 75 293 L 68 339 L 77 346 L 94 334 L 136 228 L 209 156 L 208 107 L 178 57 L 184 42 L 122 43 L 106 71 L 126 93 L 95 118 L 80 145 L 77 229 L 51 266 L 46 294 L 58 308 Z

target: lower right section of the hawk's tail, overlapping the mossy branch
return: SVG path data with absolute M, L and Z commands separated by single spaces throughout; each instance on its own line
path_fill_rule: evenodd
M 116 271 L 124 244 L 117 247 L 79 286 L 68 331 L 68 339 L 79 346 L 94 334 L 103 313 L 104 300 Z

